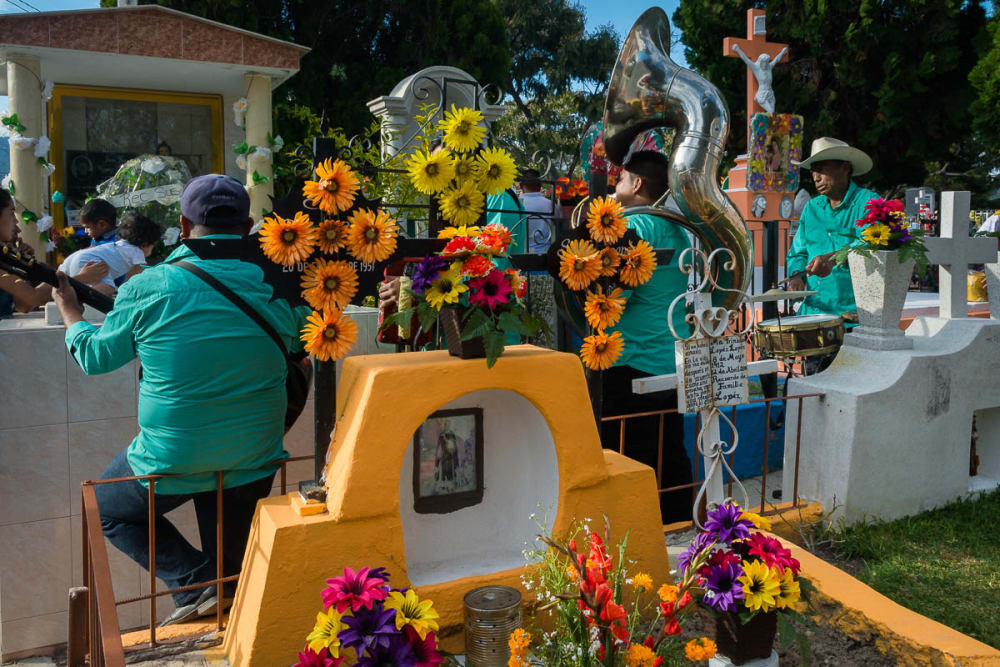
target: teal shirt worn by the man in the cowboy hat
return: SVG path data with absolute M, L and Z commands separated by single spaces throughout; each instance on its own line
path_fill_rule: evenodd
M 830 207 L 825 195 L 810 199 L 802 210 L 799 229 L 788 249 L 788 275 L 806 268 L 813 257 L 840 250 L 856 241 L 858 228 L 855 223 L 865 216 L 865 204 L 877 197 L 878 194 L 851 181 L 844 201 L 836 208 Z M 840 315 L 857 310 L 851 272 L 846 264 L 834 267 L 825 278 L 809 276 L 806 283 L 808 289 L 816 290 L 818 294 L 806 297 L 799 309 L 800 315 Z

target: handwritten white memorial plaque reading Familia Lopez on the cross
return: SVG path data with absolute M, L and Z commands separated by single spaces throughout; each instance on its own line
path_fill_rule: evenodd
M 746 344 L 741 336 L 697 338 L 674 344 L 680 412 L 746 403 Z

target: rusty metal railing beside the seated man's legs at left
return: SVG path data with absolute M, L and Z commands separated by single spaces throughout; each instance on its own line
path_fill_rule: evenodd
M 312 460 L 312 456 L 293 456 L 268 463 L 266 466 L 280 466 L 280 488 L 281 494 L 287 493 L 287 465 L 295 461 Z M 121 629 L 118 622 L 117 608 L 121 605 L 149 601 L 149 642 L 150 648 L 157 645 L 156 641 L 156 599 L 164 595 L 181 593 L 183 591 L 198 588 L 216 587 L 218 604 L 215 612 L 216 630 L 223 629 L 224 609 L 223 592 L 224 584 L 239 579 L 238 574 L 225 576 L 223 572 L 223 516 L 222 516 L 222 478 L 223 471 L 216 471 L 216 577 L 215 579 L 183 586 L 180 588 L 169 588 L 157 590 L 156 586 L 156 493 L 154 491 L 155 480 L 167 477 L 182 477 L 183 475 L 134 475 L 131 477 L 115 477 L 112 479 L 87 480 L 81 483 L 81 493 L 83 496 L 82 520 L 83 520 L 83 581 L 86 585 L 86 594 L 70 596 L 70 623 L 71 628 L 67 645 L 67 658 L 70 667 L 77 664 L 84 664 L 90 667 L 124 667 L 125 651 L 122 646 Z M 120 484 L 123 482 L 150 482 L 149 493 L 149 592 L 122 600 L 115 600 L 114 589 L 111 580 L 111 565 L 108 559 L 108 550 L 104 543 L 104 534 L 101 531 L 100 511 L 97 506 L 96 487 L 102 484 Z M 204 549 L 204 545 L 202 545 Z M 76 602 L 74 603 L 74 599 Z M 78 621 L 75 615 L 83 614 L 85 619 Z M 85 631 L 86 636 L 80 636 L 78 632 Z

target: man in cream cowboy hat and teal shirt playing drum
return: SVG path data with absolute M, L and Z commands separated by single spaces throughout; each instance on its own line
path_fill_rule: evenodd
M 872 159 L 839 139 L 821 137 L 813 141 L 809 159 L 795 164 L 812 172 L 819 193 L 802 210 L 786 259 L 788 275 L 805 271 L 807 276 L 806 284 L 796 278 L 788 289 L 817 292 L 806 298 L 798 314 L 856 311 L 850 271 L 847 266 L 837 266 L 833 254 L 857 240 L 855 223 L 864 217 L 865 204 L 878 197 L 851 180 L 871 171 Z

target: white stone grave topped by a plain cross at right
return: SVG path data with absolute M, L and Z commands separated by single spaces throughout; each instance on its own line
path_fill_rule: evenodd
M 917 514 L 1000 485 L 1000 322 L 965 316 L 966 263 L 984 261 L 987 250 L 995 257 L 996 242 L 968 238 L 968 206 L 967 192 L 942 196 L 942 237 L 927 239 L 942 265 L 941 308 L 906 330 L 912 349 L 845 340 L 829 369 L 788 381 L 789 393 L 825 394 L 803 406 L 799 496 L 836 505 L 848 523 Z M 980 465 L 972 477 L 974 415 Z M 791 489 L 799 416 L 788 419 L 783 484 Z

